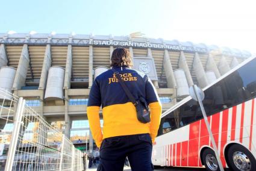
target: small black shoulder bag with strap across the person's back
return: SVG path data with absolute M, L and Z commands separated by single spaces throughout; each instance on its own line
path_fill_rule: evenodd
M 134 96 L 131 94 L 128 87 L 125 85 L 125 82 L 123 82 L 122 78 L 120 78 L 119 72 L 115 72 L 114 69 L 112 70 L 114 72 L 114 75 L 116 75 L 118 82 L 120 82 L 126 95 L 130 99 L 130 101 L 133 103 L 133 105 L 136 107 L 137 119 L 142 123 L 150 122 L 150 111 L 149 111 L 148 103 L 146 102 L 146 99 L 143 98 L 143 96 L 140 96 L 138 100 L 134 99 Z

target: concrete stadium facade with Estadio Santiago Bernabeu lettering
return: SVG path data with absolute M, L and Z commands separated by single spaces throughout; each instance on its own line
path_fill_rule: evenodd
M 238 49 L 111 35 L 0 34 L 0 44 L 0 87 L 25 98 L 76 146 L 82 149 L 88 140 L 89 150 L 96 148 L 86 115 L 90 87 L 110 67 L 115 48 L 130 50 L 134 68 L 157 88 L 163 110 L 188 96 L 189 86 L 205 87 L 251 56 Z M 8 129 L 4 120 L 0 126 Z

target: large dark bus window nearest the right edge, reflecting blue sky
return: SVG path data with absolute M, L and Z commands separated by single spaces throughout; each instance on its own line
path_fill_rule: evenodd
M 208 116 L 256 96 L 256 58 L 204 91 Z

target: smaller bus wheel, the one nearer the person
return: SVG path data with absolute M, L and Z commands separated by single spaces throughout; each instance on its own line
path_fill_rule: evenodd
M 219 171 L 219 165 L 217 163 L 217 158 L 212 149 L 207 148 L 202 152 L 202 161 L 204 163 L 205 169 L 208 171 Z

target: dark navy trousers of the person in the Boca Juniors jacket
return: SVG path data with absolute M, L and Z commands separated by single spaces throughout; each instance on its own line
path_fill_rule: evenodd
M 99 149 L 99 171 L 123 170 L 125 158 L 133 171 L 151 171 L 152 141 L 149 134 L 105 138 Z

